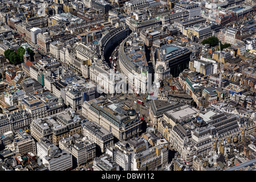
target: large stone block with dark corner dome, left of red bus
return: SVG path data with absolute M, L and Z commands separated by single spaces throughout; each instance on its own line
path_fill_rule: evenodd
M 142 121 L 136 110 L 115 98 L 109 100 L 101 96 L 95 100 L 86 101 L 82 107 L 82 114 L 120 140 L 132 138 L 141 132 Z

